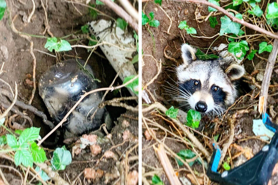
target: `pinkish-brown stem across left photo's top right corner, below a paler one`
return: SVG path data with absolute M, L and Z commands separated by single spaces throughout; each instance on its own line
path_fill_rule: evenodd
M 135 22 L 130 15 L 128 15 L 124 9 L 122 9 L 119 5 L 115 4 L 110 0 L 100 0 L 104 4 L 106 4 L 109 8 L 111 8 L 116 14 L 118 14 L 121 18 L 125 19 L 125 21 L 135 30 L 138 34 L 138 22 Z

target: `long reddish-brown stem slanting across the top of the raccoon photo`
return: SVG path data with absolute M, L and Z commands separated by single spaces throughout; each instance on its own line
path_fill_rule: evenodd
M 248 23 L 248 22 L 245 22 L 244 20 L 240 20 L 240 19 L 234 17 L 232 14 L 230 14 L 230 13 L 229 13 L 227 10 L 225 10 L 224 8 L 222 8 L 222 7 L 220 7 L 220 6 L 217 6 L 217 5 L 215 5 L 215 4 L 212 4 L 212 3 L 208 2 L 208 1 L 205 1 L 205 0 L 175 0 L 175 1 L 179 1 L 179 2 L 190 2 L 190 3 L 202 4 L 202 5 L 210 6 L 210 7 L 212 7 L 212 8 L 215 8 L 216 10 L 218 10 L 218 11 L 224 13 L 224 14 L 225 14 L 228 18 L 230 18 L 233 22 L 237 22 L 237 23 L 239 23 L 239 24 L 241 24 L 241 25 L 244 25 L 244 26 L 246 26 L 246 27 L 248 27 L 248 28 L 251 28 L 251 29 L 253 29 L 253 30 L 257 31 L 257 32 L 260 32 L 260 33 L 262 33 L 262 34 L 269 35 L 269 36 L 271 36 L 271 37 L 274 38 L 274 39 L 278 39 L 277 33 L 274 34 L 274 33 L 272 33 L 272 32 L 266 31 L 265 29 L 262 29 L 262 28 L 260 28 L 260 27 L 258 27 L 258 26 L 256 26 L 256 25 L 252 25 L 252 24 L 250 24 L 250 23 Z

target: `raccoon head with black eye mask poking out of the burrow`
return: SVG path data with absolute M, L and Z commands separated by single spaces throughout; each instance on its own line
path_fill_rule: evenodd
M 196 50 L 182 45 L 183 64 L 177 67 L 179 99 L 196 111 L 218 115 L 234 103 L 237 96 L 235 81 L 241 78 L 244 67 L 222 58 L 198 60 Z

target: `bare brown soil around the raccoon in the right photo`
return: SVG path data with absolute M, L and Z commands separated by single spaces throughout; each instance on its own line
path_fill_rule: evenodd
M 209 25 L 209 21 L 202 22 L 202 23 L 197 23 L 195 20 L 195 11 L 197 8 L 197 5 L 195 4 L 185 4 L 185 3 L 178 3 L 178 2 L 173 2 L 173 1 L 162 1 L 161 7 L 165 10 L 165 12 L 170 16 L 172 19 L 172 25 L 170 28 L 170 34 L 167 33 L 168 27 L 170 25 L 170 20 L 166 16 L 166 14 L 156 6 L 153 2 L 149 1 L 148 3 L 143 3 L 142 9 L 146 15 L 149 15 L 151 11 L 154 12 L 155 17 L 154 19 L 159 20 L 160 25 L 158 28 L 154 27 L 149 27 L 150 31 L 152 32 L 154 39 L 155 39 L 155 47 L 153 47 L 153 39 L 151 37 L 151 34 L 149 31 L 146 29 L 145 26 L 142 26 L 142 49 L 143 53 L 145 55 L 153 55 L 156 60 L 162 61 L 162 70 L 158 76 L 158 78 L 148 86 L 148 89 L 150 92 L 153 94 L 153 96 L 156 98 L 156 100 L 162 102 L 167 108 L 170 108 L 172 105 L 175 106 L 177 105 L 177 102 L 174 101 L 167 101 L 169 100 L 169 96 L 163 94 L 164 89 L 161 85 L 168 85 L 166 81 L 169 83 L 172 82 L 172 80 L 175 81 L 175 66 L 177 66 L 181 61 L 181 52 L 180 52 L 180 46 L 182 43 L 186 42 L 189 43 L 191 46 L 196 46 L 200 49 L 202 48 L 208 48 L 210 44 L 217 38 L 214 37 L 213 39 L 204 39 L 204 38 L 195 38 L 190 36 L 189 34 L 186 34 L 186 32 L 181 31 L 178 28 L 179 22 L 186 20 L 187 25 L 189 27 L 194 27 L 197 31 L 196 36 L 207 36 L 211 37 L 215 34 L 217 34 L 220 30 L 220 25 L 216 25 L 216 27 L 213 29 Z M 207 6 L 200 6 L 199 10 L 201 15 L 208 15 L 208 10 Z M 217 21 L 220 24 L 220 17 L 217 17 Z M 246 29 L 247 32 L 250 32 L 248 34 L 252 34 L 253 31 Z M 182 34 L 182 35 L 181 35 Z M 183 37 L 183 38 L 182 38 Z M 219 46 L 220 43 L 227 43 L 225 36 L 219 37 L 211 47 Z M 258 47 L 258 43 L 253 43 L 255 47 Z M 166 48 L 165 52 L 169 57 L 172 57 L 177 60 L 177 62 L 173 60 L 169 60 L 165 57 L 163 50 Z M 203 50 L 206 52 L 206 50 Z M 263 57 L 268 58 L 269 53 L 262 53 Z M 157 74 L 157 66 L 156 66 L 156 61 L 154 61 L 151 57 L 144 56 L 144 66 L 142 67 L 142 83 L 143 85 L 149 82 L 156 74 Z M 253 59 L 254 65 L 258 64 L 261 60 L 257 57 L 254 57 Z M 244 60 L 243 62 L 245 69 L 247 73 L 251 74 L 254 70 L 253 64 L 251 61 Z M 264 69 L 266 63 L 263 62 L 262 65 L 260 66 L 259 69 Z M 277 67 L 277 66 L 276 66 Z M 256 77 L 256 76 L 254 76 Z M 171 79 L 172 78 L 172 79 Z M 272 80 L 271 84 L 277 84 L 277 72 L 273 72 L 272 75 Z M 259 90 L 255 90 L 254 92 L 251 92 L 253 97 L 257 95 Z M 274 111 L 277 112 L 277 88 L 270 88 L 269 94 L 274 94 L 274 96 L 269 97 L 268 102 L 269 106 L 274 105 Z M 149 96 L 150 99 L 152 100 L 151 96 Z M 144 104 L 144 102 L 143 102 Z M 246 141 L 239 142 L 240 139 L 246 138 L 247 136 L 254 136 L 252 132 L 253 128 L 253 119 L 260 119 L 260 115 L 255 111 L 256 106 L 258 106 L 258 98 L 252 99 L 250 97 L 244 97 L 244 99 L 241 101 L 240 104 L 236 104 L 235 107 L 233 107 L 227 114 L 225 120 L 223 121 L 222 125 L 219 126 L 218 129 L 216 129 L 216 133 L 220 134 L 220 138 L 218 141 L 221 141 L 223 138 L 227 137 L 229 135 L 229 124 L 227 123 L 227 117 L 230 117 L 233 115 L 236 111 L 239 110 L 244 110 L 247 107 L 254 108 L 253 111 L 250 111 L 248 114 L 243 114 L 239 119 L 237 119 L 234 123 L 235 125 L 235 137 L 234 137 L 234 142 L 242 147 L 248 146 L 252 149 L 253 153 L 256 154 L 262 147 L 265 145 L 264 142 L 257 140 L 257 139 L 249 139 Z M 250 108 L 250 107 L 249 107 Z M 269 109 L 267 110 L 269 112 Z M 148 115 L 146 115 L 148 117 Z M 152 118 L 153 119 L 153 118 Z M 274 120 L 274 123 L 277 123 L 277 115 L 272 118 Z M 158 123 L 163 125 L 165 128 L 170 130 L 170 126 L 167 122 L 156 119 Z M 215 127 L 215 120 L 212 120 L 211 118 L 203 117 L 201 120 L 201 125 L 204 125 L 204 128 L 198 128 L 197 130 L 203 131 L 203 134 L 207 135 L 208 137 L 213 138 L 214 135 L 212 135 Z M 172 128 L 172 127 L 171 127 Z M 172 128 L 172 130 L 175 130 Z M 143 132 L 145 129 L 143 128 Z M 156 136 L 158 139 L 163 139 L 165 137 L 165 133 L 161 131 L 160 129 L 156 130 L 157 134 Z M 178 133 L 176 133 L 178 135 Z M 204 143 L 204 146 L 206 146 L 203 138 L 201 136 L 198 136 L 195 134 L 195 136 L 200 139 L 201 143 Z M 169 136 L 168 136 L 169 137 Z M 226 140 L 222 141 L 226 142 Z M 161 165 L 156 158 L 155 152 L 153 150 L 153 147 L 150 147 L 154 142 L 150 142 L 143 138 L 142 142 L 142 161 L 143 163 L 146 163 L 148 167 L 145 166 L 145 172 L 151 172 L 153 171 L 153 168 L 155 167 L 156 169 L 161 169 Z M 182 143 L 179 143 L 173 139 L 166 139 L 165 144 L 170 147 L 175 152 L 179 152 L 182 149 L 187 149 L 187 146 L 185 146 Z M 221 145 L 220 145 L 221 147 Z M 212 153 L 212 150 L 207 147 L 208 151 Z M 237 151 L 232 149 L 231 153 L 232 156 L 236 153 Z M 151 154 L 151 155 L 150 155 Z M 243 157 L 245 158 L 245 157 Z M 177 163 L 173 158 L 170 158 L 172 162 L 172 166 L 174 169 L 177 168 Z M 226 160 L 226 159 L 225 159 Z M 234 164 L 237 163 L 238 159 L 235 159 L 233 162 Z M 246 160 L 246 158 L 244 159 Z M 192 170 L 196 169 L 199 173 L 203 173 L 202 169 L 200 168 L 200 165 L 194 164 L 192 166 Z M 162 171 L 160 171 L 162 172 Z M 184 177 L 184 174 L 187 174 L 188 172 L 185 173 L 180 173 L 179 177 Z M 166 178 L 164 172 L 160 177 L 162 177 L 163 181 L 165 184 L 169 184 L 168 179 Z M 149 178 L 150 179 L 150 178 Z M 278 174 L 274 175 L 272 177 L 272 184 L 277 184 L 278 183 Z

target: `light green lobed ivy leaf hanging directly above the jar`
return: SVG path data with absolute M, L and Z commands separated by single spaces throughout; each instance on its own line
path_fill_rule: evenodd
M 47 42 L 45 43 L 44 48 L 48 49 L 50 52 L 52 52 L 52 50 L 59 52 L 59 51 L 69 51 L 72 49 L 68 41 L 65 40 L 58 41 L 56 37 L 47 38 Z

